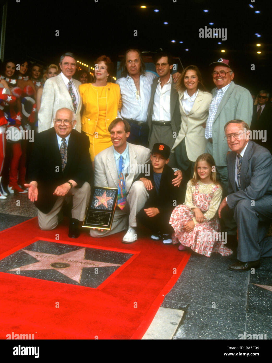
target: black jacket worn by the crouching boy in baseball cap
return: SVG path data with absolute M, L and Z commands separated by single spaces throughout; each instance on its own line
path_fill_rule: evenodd
M 171 215 L 176 205 L 180 204 L 180 189 L 174 187 L 172 180 L 176 178 L 174 171 L 167 164 L 165 164 L 162 174 L 160 188 L 157 193 L 154 182 L 154 172 L 152 164 L 150 165 L 150 175 L 145 176 L 142 174 L 140 178 L 146 178 L 152 181 L 153 189 L 148 190 L 149 198 L 145 203 L 144 209 L 146 208 L 158 208 L 160 213 Z

